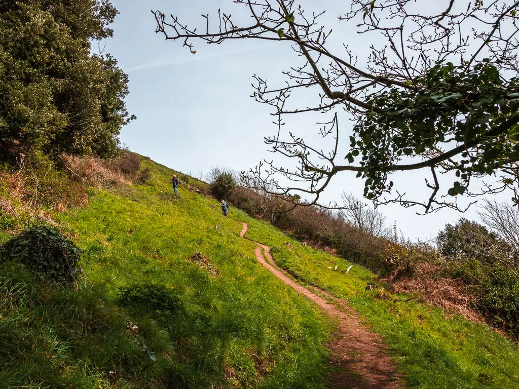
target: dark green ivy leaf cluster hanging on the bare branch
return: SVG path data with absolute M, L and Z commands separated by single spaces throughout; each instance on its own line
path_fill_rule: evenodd
M 519 111 L 519 85 L 512 78 L 503 84 L 498 67 L 483 61 L 469 68 L 440 63 L 414 88 L 391 88 L 370 100 L 373 109 L 353 128 L 351 163 L 362 155 L 359 176 L 365 180 L 364 195 L 379 197 L 390 191 L 387 173 L 405 156 L 426 156 L 438 148 L 476 141 L 459 160 L 446 165 L 461 180 L 449 195 L 462 195 L 471 175 L 491 174 L 510 161 L 519 160 L 519 127 L 493 136 L 488 132 Z

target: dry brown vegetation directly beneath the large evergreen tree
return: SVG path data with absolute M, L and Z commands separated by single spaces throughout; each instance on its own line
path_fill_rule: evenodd
M 149 171 L 139 171 L 140 157 L 129 151 L 111 160 L 61 155 L 53 162 L 22 155 L 17 162 L 0 170 L 0 223 L 11 232 L 40 222 L 52 225 L 52 212 L 87 205 L 87 186 L 125 189 L 149 179 Z

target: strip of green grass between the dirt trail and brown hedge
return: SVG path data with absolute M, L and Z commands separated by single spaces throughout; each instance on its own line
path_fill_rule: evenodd
M 519 387 L 519 352 L 509 339 L 487 326 L 416 300 L 394 302 L 397 296 L 381 299 L 378 290 L 365 291 L 366 284 L 376 279 L 366 269 L 354 265 L 346 275 L 351 262 L 303 247 L 274 227 L 243 214 L 240 217 L 249 223 L 247 236 L 271 246 L 282 268 L 302 283 L 347 300 L 359 312 L 384 338 L 409 387 Z M 283 245 L 285 241 L 294 249 Z

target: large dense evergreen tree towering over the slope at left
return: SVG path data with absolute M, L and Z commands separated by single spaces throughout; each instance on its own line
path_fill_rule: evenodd
M 133 118 L 128 77 L 110 54 L 110 0 L 16 0 L 0 5 L 0 156 L 40 151 L 111 157 Z

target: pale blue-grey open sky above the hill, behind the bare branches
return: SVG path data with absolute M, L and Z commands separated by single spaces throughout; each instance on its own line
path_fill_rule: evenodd
M 166 15 L 173 13 L 181 20 L 202 26 L 201 13 L 214 13 L 222 8 L 236 16 L 234 12 L 240 7 L 236 8 L 231 0 L 112 2 L 120 14 L 111 26 L 114 37 L 103 42 L 100 50 L 114 55 L 128 73 L 127 107 L 138 118 L 121 131 L 122 143 L 174 170 L 195 176 L 207 173 L 214 166 L 247 171 L 264 159 L 275 158 L 278 164 L 285 163 L 269 152 L 264 143 L 264 137 L 276 131 L 272 124 L 275 117 L 267 106 L 256 103 L 250 95 L 254 74 L 276 86 L 283 81 L 281 71 L 298 63 L 290 46 L 258 40 L 226 41 L 222 45 L 200 41 L 192 54 L 182 47 L 181 41 L 166 41 L 163 35 L 155 33 L 151 10 L 161 10 Z M 337 17 L 347 11 L 344 1 L 307 0 L 306 3 L 315 10 L 326 7 L 321 22 L 333 26 L 337 41 L 332 40 L 332 44 L 347 40 L 355 45 L 361 58 L 368 53 L 372 43 L 368 39 L 372 37 L 358 35 L 353 25 L 337 22 Z M 296 102 L 306 106 L 305 101 Z M 317 142 L 318 120 L 315 115 L 295 115 L 286 128 Z M 350 124 L 344 120 L 341 126 L 342 140 L 348 140 Z M 424 172 L 413 171 L 397 175 L 393 180 L 403 191 L 428 198 L 424 177 Z M 363 188 L 362 180 L 344 172 L 332 179 L 324 201 L 339 201 L 343 191 L 361 197 Z M 497 199 L 508 197 L 501 195 Z M 418 209 L 397 204 L 381 206 L 378 211 L 387 217 L 388 224 L 395 223 L 411 240 L 433 239 L 446 223 L 453 224 L 461 216 L 477 219 L 476 206 L 465 214 L 444 209 L 419 216 Z

